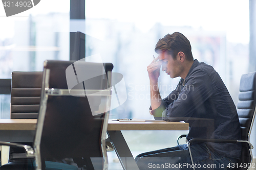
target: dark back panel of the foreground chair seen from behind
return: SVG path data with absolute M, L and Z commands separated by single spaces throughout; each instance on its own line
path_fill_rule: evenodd
M 68 89 L 65 70 L 70 64 L 71 61 L 48 61 L 49 89 Z M 41 135 L 41 157 L 102 157 L 103 118 L 104 114 L 92 115 L 87 97 L 49 95 Z

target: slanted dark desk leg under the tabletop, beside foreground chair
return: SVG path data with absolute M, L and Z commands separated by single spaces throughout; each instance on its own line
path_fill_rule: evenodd
M 121 131 L 108 131 L 114 150 L 124 170 L 139 170 Z

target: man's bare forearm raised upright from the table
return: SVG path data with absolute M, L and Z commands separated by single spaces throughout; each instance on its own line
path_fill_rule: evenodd
M 152 110 L 157 109 L 162 103 L 162 98 L 160 96 L 157 82 L 150 82 L 150 98 Z

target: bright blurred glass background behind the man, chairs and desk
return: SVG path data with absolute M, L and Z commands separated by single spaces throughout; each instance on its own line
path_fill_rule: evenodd
M 127 100 L 111 111 L 111 118 L 153 118 L 148 113 L 150 87 L 146 67 L 152 55 L 157 57 L 156 42 L 167 33 L 178 31 L 190 40 L 194 58 L 214 66 L 235 104 L 241 75 L 256 71 L 256 66 L 250 66 L 255 64 L 256 57 L 249 48 L 250 27 L 255 25 L 255 1 L 81 2 L 44 0 L 11 17 L 5 17 L 0 5 L 0 79 L 10 79 L 12 71 L 42 71 L 46 59 L 69 60 L 73 45 L 70 32 L 76 31 L 86 34 L 86 56 L 100 55 L 103 62 L 114 64 L 113 72 L 123 75 Z M 73 15 L 71 7 L 77 3 L 84 5 L 79 9 L 85 19 Z M 161 72 L 162 97 L 174 90 L 178 81 L 179 78 L 170 79 Z M 9 117 L 10 95 L 0 95 L 0 118 Z M 175 145 L 181 133 L 186 132 L 123 131 L 134 156 Z M 251 141 L 256 145 L 254 134 Z M 110 158 L 111 169 L 120 168 L 115 155 L 110 154 Z

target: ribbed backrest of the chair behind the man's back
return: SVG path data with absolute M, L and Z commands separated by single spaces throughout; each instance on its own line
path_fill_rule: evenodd
M 256 72 L 244 74 L 240 80 L 239 101 L 237 111 L 242 131 L 242 140 L 249 141 L 252 125 L 255 117 L 256 104 Z M 252 153 L 247 143 L 242 143 L 243 163 L 249 163 L 252 160 Z

